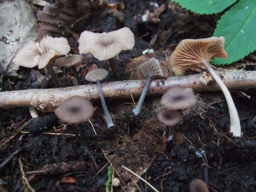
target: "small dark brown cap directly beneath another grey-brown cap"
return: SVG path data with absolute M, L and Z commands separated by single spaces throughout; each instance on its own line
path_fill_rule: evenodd
M 181 114 L 179 111 L 170 111 L 166 108 L 161 109 L 156 118 L 167 126 L 175 126 L 181 121 Z

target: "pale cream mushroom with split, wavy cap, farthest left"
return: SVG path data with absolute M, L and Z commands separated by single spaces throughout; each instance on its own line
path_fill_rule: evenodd
M 40 44 L 29 41 L 16 54 L 13 62 L 16 65 L 29 68 L 38 66 L 38 69 L 42 69 L 46 67 L 56 87 L 59 88 L 60 84 L 54 73 L 51 62 L 59 55 L 68 54 L 70 50 L 71 49 L 66 38 L 52 38 L 47 35 L 47 37 L 42 38 Z

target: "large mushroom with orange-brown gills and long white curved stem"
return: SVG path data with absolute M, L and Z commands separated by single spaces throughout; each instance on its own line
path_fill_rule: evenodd
M 186 70 L 195 66 L 203 64 L 207 68 L 211 76 L 220 86 L 220 89 L 226 98 L 230 115 L 230 132 L 233 133 L 233 136 L 240 137 L 241 126 L 236 106 L 234 105 L 227 87 L 209 63 L 214 57 L 223 59 L 228 58 L 228 54 L 224 49 L 224 43 L 224 37 L 184 39 L 179 43 L 173 54 L 170 56 L 169 62 L 173 72 L 179 76 L 184 75 Z

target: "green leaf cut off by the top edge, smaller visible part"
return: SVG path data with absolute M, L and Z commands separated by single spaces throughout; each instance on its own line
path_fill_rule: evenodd
M 199 14 L 213 14 L 222 12 L 236 0 L 174 0 L 182 7 Z

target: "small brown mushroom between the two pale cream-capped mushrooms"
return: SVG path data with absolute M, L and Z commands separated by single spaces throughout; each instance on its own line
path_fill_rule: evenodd
M 77 83 L 79 85 L 82 85 L 82 83 L 80 81 L 80 78 L 79 78 L 79 75 L 78 75 L 78 72 L 77 72 L 77 69 L 75 67 L 75 65 L 77 65 L 80 62 L 82 62 L 82 60 L 83 60 L 83 56 L 82 55 L 72 55 L 72 54 L 69 54 L 69 56 L 61 57 L 59 59 L 56 59 L 55 62 L 54 62 L 54 65 L 56 67 L 70 67 L 71 70 L 74 73 L 74 76 L 77 79 Z

